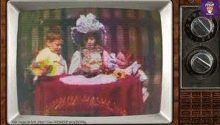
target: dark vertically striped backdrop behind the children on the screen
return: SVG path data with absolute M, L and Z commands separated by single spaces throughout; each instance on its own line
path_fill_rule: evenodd
M 155 11 L 129 9 L 55 9 L 26 11 L 19 15 L 17 80 L 21 114 L 34 114 L 33 75 L 26 69 L 39 50 L 44 48 L 44 37 L 50 26 L 62 30 L 62 55 L 69 66 L 76 47 L 70 28 L 81 14 L 93 13 L 108 32 L 107 48 L 117 52 L 121 47 L 132 51 L 149 78 L 150 96 L 143 114 L 158 113 L 161 99 L 162 40 L 160 15 Z

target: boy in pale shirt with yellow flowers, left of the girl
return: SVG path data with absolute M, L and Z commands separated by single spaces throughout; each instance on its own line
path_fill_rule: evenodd
M 67 64 L 60 54 L 61 33 L 59 27 L 51 27 L 45 40 L 45 48 L 39 52 L 34 63 L 31 64 L 34 81 L 39 76 L 56 76 L 67 73 Z

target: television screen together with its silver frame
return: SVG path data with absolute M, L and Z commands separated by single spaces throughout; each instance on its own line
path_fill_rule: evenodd
M 170 0 L 8 1 L 7 123 L 172 123 L 173 7 Z M 90 30 L 97 45 L 85 38 Z M 89 70 L 86 54 L 96 65 Z M 67 72 L 58 74 L 60 65 Z

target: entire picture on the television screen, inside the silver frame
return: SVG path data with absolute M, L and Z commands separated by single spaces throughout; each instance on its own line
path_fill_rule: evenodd
M 85 115 L 92 116 L 160 111 L 162 42 L 158 12 L 112 8 L 26 11 L 20 13 L 17 44 L 21 114 L 49 115 L 49 110 L 56 109 L 56 115 L 83 114 L 79 108 L 88 108 Z M 134 81 L 124 80 L 129 78 Z M 121 85 L 118 88 L 115 84 Z M 132 90 L 135 87 L 137 90 Z M 119 110 L 116 107 L 123 113 L 108 111 Z

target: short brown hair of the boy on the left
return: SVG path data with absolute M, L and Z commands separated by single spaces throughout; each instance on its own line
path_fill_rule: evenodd
M 62 33 L 58 26 L 50 27 L 49 31 L 47 32 L 46 41 L 53 42 L 54 40 L 60 40 Z

